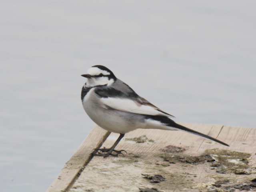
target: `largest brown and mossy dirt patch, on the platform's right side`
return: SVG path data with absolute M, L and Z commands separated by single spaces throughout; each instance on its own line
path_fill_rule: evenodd
M 249 164 L 251 156 L 249 153 L 215 148 L 206 150 L 200 156 L 189 156 L 180 154 L 180 152 L 162 151 L 165 151 L 165 153 L 161 153 L 160 157 L 169 164 L 180 164 L 185 167 L 190 167 L 190 164 L 192 164 L 194 167 L 204 168 L 205 171 L 208 168 L 221 174 L 220 176 L 212 175 L 212 178 L 216 180 L 214 183 L 196 184 L 191 187 L 193 189 L 202 192 L 256 191 L 256 178 L 250 180 L 251 177 L 246 177 L 247 175 L 256 176 L 255 165 Z M 197 177 L 196 174 L 194 177 Z M 211 177 L 211 175 L 208 175 L 208 177 Z M 186 182 L 186 184 L 189 184 L 189 182 Z M 189 185 L 191 186 L 191 183 Z

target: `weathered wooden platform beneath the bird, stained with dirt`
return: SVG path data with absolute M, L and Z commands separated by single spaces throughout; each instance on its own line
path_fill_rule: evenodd
M 116 147 L 117 150 L 126 150 L 128 154 L 119 157 L 110 156 L 108 158 L 95 156 L 81 172 L 84 164 L 89 160 L 88 153 L 91 152 L 92 148 L 96 148 L 96 145 L 92 146 L 92 140 L 104 140 L 99 139 L 100 134 L 98 132 L 102 133 L 101 137 L 105 136 L 106 138 L 107 136 L 107 132 L 97 128 L 94 129 L 91 136 L 86 138 L 76 154 L 74 154 L 75 157 L 79 154 L 80 161 L 83 156 L 86 156 L 87 160 L 82 161 L 84 164 L 79 163 L 82 168 L 78 171 L 79 168 L 76 166 L 76 171 L 73 170 L 73 164 L 77 165 L 76 158 L 73 158 L 73 156 L 73 160 L 72 158 L 72 161 L 70 160 L 73 163 L 70 164 L 69 161 L 66 164 L 60 174 L 60 179 L 58 177 L 54 181 L 48 192 L 63 191 L 67 187 L 67 192 L 139 192 L 139 188 L 157 188 L 163 192 L 207 192 L 214 189 L 216 191 L 228 191 L 229 188 L 230 191 L 231 189 L 233 191 L 240 191 L 240 189 L 245 190 L 246 185 L 250 188 L 250 180 L 256 178 L 255 128 L 210 124 L 181 124 L 226 142 L 230 147 L 182 131 L 138 129 L 126 134 Z M 93 134 L 95 136 L 92 136 Z M 144 140 L 145 142 L 143 143 L 137 143 L 131 140 L 143 135 L 146 135 L 151 141 L 154 140 L 154 142 Z M 119 134 L 111 133 L 102 147 L 111 147 L 118 136 Z M 87 144 L 91 145 L 87 146 Z M 181 147 L 185 151 L 182 153 L 176 151 L 177 153 L 174 154 L 164 152 L 167 149 L 166 146 L 172 146 L 174 149 L 175 146 Z M 219 150 L 210 151 L 208 154 L 216 158 L 217 162 L 220 162 L 220 167 L 213 167 L 213 162 L 188 163 L 191 159 L 187 159 L 188 162 L 180 162 L 177 159 L 172 162 L 172 156 L 181 156 L 181 159 L 186 160 L 190 156 L 200 156 L 206 150 L 214 148 L 218 148 Z M 230 152 L 223 150 L 229 150 Z M 241 153 L 238 154 L 239 157 L 234 156 L 236 158 L 234 159 L 232 155 L 236 154 L 236 152 L 232 151 Z M 84 155 L 84 152 L 87 155 Z M 252 155 L 250 156 L 246 153 Z M 243 156 L 244 158 L 241 158 Z M 250 158 L 248 158 L 249 156 Z M 222 160 L 218 160 L 219 157 L 226 159 L 222 162 Z M 247 159 L 249 160 L 249 164 L 246 164 Z M 221 173 L 220 168 L 224 169 L 223 173 Z M 240 168 L 241 171 L 239 171 Z M 246 172 L 245 168 L 248 172 Z M 66 176 L 67 171 L 72 172 L 72 177 Z M 74 172 L 79 174 L 74 176 Z M 160 174 L 166 179 L 160 183 L 150 183 L 150 180 L 141 175 L 145 173 Z M 65 181 L 60 181 L 63 178 L 65 178 Z M 68 178 L 72 178 L 72 180 L 68 181 Z M 213 186 L 215 182 L 217 184 L 224 182 L 224 184 Z M 65 187 L 62 187 L 62 183 Z M 236 189 L 239 187 L 240 189 Z M 254 190 L 256 188 L 251 187 L 250 189 Z

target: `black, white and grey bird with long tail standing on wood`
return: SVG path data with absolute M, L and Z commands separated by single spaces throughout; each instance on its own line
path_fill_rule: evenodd
M 93 156 L 118 156 L 125 150 L 115 150 L 124 134 L 142 129 L 181 130 L 213 140 L 225 146 L 228 144 L 180 124 L 174 116 L 162 111 L 148 100 L 140 97 L 130 86 L 116 78 L 114 73 L 102 65 L 88 69 L 82 87 L 81 100 L 85 112 L 101 128 L 120 136 L 111 148 L 96 148 Z

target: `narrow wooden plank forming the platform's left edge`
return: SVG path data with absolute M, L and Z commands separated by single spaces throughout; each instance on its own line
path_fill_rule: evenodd
M 94 148 L 101 147 L 110 132 L 95 126 L 84 142 L 79 146 L 78 150 L 66 163 L 58 177 L 54 180 L 47 192 L 64 192 L 68 186 L 72 184 L 74 179 L 80 174 L 84 166 L 90 162 L 90 153 Z

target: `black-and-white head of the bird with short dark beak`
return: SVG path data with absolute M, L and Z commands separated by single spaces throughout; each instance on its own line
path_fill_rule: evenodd
M 88 69 L 87 74 L 81 75 L 87 78 L 86 86 L 111 85 L 116 81 L 116 76 L 108 68 L 95 65 Z

